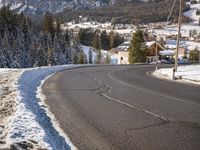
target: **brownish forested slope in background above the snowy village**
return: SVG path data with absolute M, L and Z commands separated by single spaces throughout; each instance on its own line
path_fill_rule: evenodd
M 158 21 L 167 21 L 174 0 L 149 0 L 143 2 L 140 0 L 116 0 L 114 5 L 96 9 L 65 9 L 63 17 L 67 21 L 78 19 L 79 15 L 88 17 L 88 20 L 99 22 L 112 21 L 112 23 L 150 23 Z M 177 21 L 178 2 L 175 4 L 171 21 Z M 189 9 L 184 1 L 184 9 Z M 67 15 L 66 15 L 67 14 Z M 60 14 L 59 14 L 60 15 Z M 188 21 L 184 18 L 184 21 Z

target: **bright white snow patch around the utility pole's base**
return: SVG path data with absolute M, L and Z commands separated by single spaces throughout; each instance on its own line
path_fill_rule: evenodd
M 172 80 L 173 68 L 163 68 L 153 72 L 154 76 Z M 175 78 L 181 82 L 200 84 L 200 65 L 179 66 Z

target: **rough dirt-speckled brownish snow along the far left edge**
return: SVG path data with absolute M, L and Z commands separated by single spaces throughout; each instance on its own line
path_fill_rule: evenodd
M 16 111 L 18 69 L 0 69 L 0 149 L 6 144 L 8 123 Z

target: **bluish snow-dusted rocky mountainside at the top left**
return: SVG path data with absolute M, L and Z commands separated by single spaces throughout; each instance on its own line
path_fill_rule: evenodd
M 56 13 L 64 8 L 97 8 L 114 3 L 115 0 L 0 0 L 0 7 L 9 5 L 18 13 L 42 14 Z

